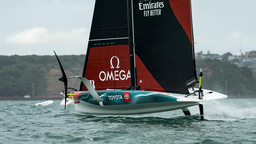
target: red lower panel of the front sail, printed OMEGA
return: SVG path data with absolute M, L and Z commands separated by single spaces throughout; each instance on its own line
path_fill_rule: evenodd
M 131 83 L 129 45 L 90 48 L 84 77 L 95 90 L 126 89 Z M 82 91 L 87 91 L 83 84 Z

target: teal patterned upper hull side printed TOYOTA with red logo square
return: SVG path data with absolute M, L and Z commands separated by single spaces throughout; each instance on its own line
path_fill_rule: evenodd
M 172 96 L 146 91 L 105 90 L 97 91 L 97 93 L 104 99 L 102 102 L 104 106 L 177 101 L 177 98 Z M 128 96 L 124 97 L 127 93 Z M 100 105 L 89 92 L 81 92 L 78 99 L 94 105 Z

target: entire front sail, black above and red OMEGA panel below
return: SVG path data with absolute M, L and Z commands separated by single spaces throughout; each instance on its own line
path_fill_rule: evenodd
M 83 76 L 95 90 L 130 85 L 126 0 L 96 0 Z M 80 91 L 87 91 L 82 83 Z

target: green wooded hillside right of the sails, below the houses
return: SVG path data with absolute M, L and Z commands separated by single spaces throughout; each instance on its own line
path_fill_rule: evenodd
M 196 69 L 203 69 L 203 89 L 215 90 L 232 96 L 255 96 L 256 80 L 252 77 L 252 70 L 248 67 L 239 68 L 228 61 L 196 59 Z

